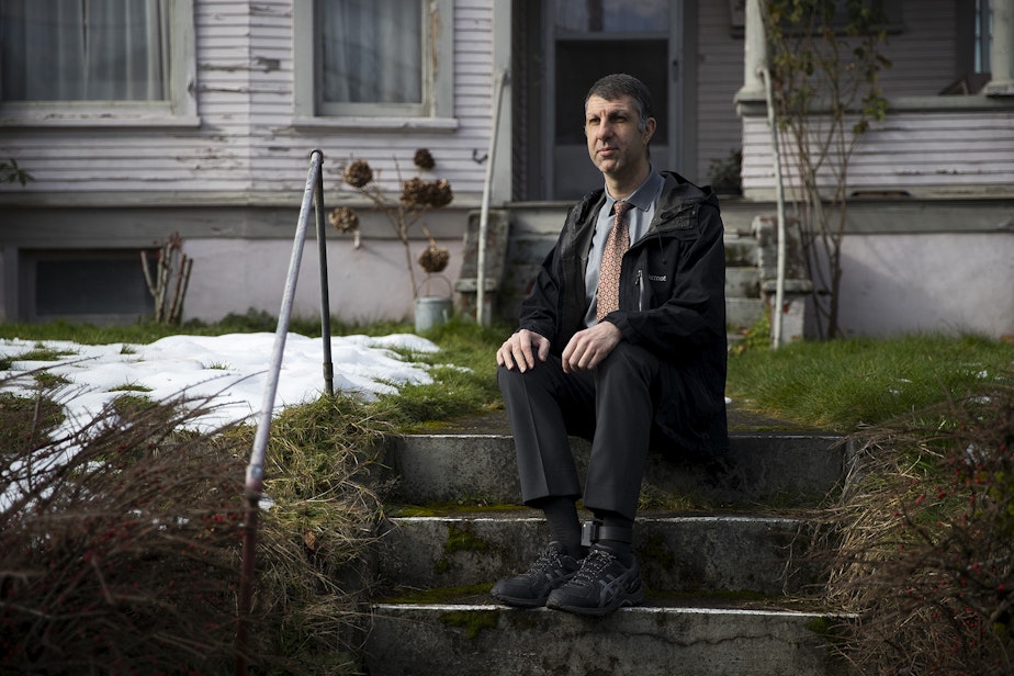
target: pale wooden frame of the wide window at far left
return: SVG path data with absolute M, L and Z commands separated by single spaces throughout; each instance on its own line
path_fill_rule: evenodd
M 194 126 L 194 0 L 169 1 L 168 99 L 160 101 L 2 101 L 3 126 Z

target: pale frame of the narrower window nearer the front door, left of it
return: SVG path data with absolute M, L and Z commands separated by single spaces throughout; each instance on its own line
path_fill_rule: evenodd
M 422 18 L 421 103 L 320 103 L 319 34 L 315 21 L 318 2 L 294 2 L 293 115 L 297 125 L 353 125 L 357 127 L 448 127 L 453 116 L 454 2 L 420 0 Z M 309 36 L 311 40 L 306 40 Z

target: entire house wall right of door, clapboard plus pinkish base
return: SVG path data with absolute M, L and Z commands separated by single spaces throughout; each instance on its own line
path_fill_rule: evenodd
M 750 0 L 753 2 L 753 0 Z M 1010 0 L 993 0 L 994 66 L 1014 40 Z M 1000 5 L 1000 14 L 995 8 Z M 753 8 L 758 5 L 753 4 Z M 903 2 L 881 75 L 885 121 L 863 135 L 848 167 L 840 328 L 1014 334 L 1014 100 L 1007 68 L 987 93 L 939 92 L 973 71 L 970 3 Z M 757 27 L 759 22 L 747 30 Z M 762 44 L 763 42 L 755 43 Z M 744 47 L 745 64 L 759 52 Z M 744 155 L 742 205 L 774 215 L 776 181 L 763 86 L 737 93 Z M 819 120 L 819 116 L 815 116 Z M 813 122 L 814 120 L 811 120 Z M 793 148 L 781 145 L 791 214 Z M 834 181 L 822 176 L 824 187 Z M 820 258 L 820 251 L 816 252 Z M 823 282 L 818 280 L 818 292 Z M 809 335 L 816 335 L 811 327 Z

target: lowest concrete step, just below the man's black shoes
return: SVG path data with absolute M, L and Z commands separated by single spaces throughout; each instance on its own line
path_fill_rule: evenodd
M 585 618 L 487 604 L 378 604 L 372 675 L 838 676 L 824 629 L 845 618 L 654 604 Z

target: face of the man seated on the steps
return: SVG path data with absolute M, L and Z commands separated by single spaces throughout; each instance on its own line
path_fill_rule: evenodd
M 630 97 L 615 101 L 590 97 L 585 103 L 588 155 L 607 177 L 621 179 L 647 162 L 647 142 L 655 132 L 655 119 L 647 119 L 643 132 L 638 131 L 638 106 Z

